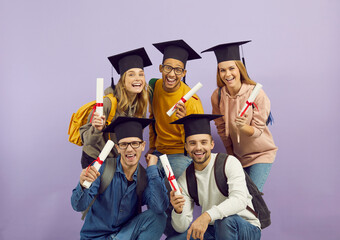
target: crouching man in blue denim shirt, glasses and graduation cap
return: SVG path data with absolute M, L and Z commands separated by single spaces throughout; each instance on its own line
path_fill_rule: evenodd
M 145 118 L 118 117 L 104 131 L 116 133 L 119 153 L 116 170 L 110 185 L 97 196 L 86 215 L 80 232 L 81 239 L 159 239 L 164 231 L 169 205 L 163 178 L 157 169 L 157 157 L 149 154 L 146 170 L 139 164 L 145 149 L 143 129 L 152 122 Z M 76 211 L 84 211 L 99 192 L 101 178 L 105 169 L 103 163 L 99 172 L 93 167 L 84 169 L 80 182 L 73 190 L 71 203 Z M 147 182 L 141 202 L 138 198 L 138 175 L 146 171 Z M 92 182 L 89 189 L 83 187 L 84 181 Z M 141 178 L 141 180 L 144 180 Z M 140 180 L 140 181 L 141 181 Z M 141 206 L 148 210 L 140 213 Z

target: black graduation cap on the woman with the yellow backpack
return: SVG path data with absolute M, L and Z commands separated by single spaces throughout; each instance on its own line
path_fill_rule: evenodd
M 132 51 L 120 53 L 108 57 L 112 66 L 117 73 L 122 75 L 131 68 L 141 68 L 152 65 L 151 60 L 144 48 L 138 48 Z

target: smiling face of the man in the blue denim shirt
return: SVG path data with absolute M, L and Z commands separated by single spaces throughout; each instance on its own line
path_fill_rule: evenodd
M 119 143 L 131 143 L 131 142 L 140 142 L 141 139 L 138 137 L 128 137 L 128 138 L 122 138 L 119 140 Z M 121 154 L 120 162 L 123 166 L 123 168 L 132 168 L 136 166 L 139 162 L 139 159 L 142 155 L 142 152 L 145 149 L 145 142 L 143 141 L 140 146 L 136 149 L 132 148 L 131 144 L 127 146 L 125 150 L 120 149 L 117 145 L 116 148 L 118 150 L 118 153 Z

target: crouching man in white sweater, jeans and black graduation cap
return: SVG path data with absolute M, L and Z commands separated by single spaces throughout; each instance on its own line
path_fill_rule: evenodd
M 217 117 L 221 115 L 192 114 L 172 122 L 184 124 L 185 148 L 193 159 L 193 165 L 190 165 L 178 179 L 182 195 L 175 195 L 174 191 L 170 193 L 170 201 L 174 207 L 171 223 L 181 234 L 169 239 L 261 238 L 260 221 L 251 212 L 252 197 L 238 159 L 229 155 L 224 165 L 228 196 L 223 195 L 216 184 L 214 164 L 217 162 L 217 154 L 211 153 L 214 141 L 210 132 L 210 120 Z M 188 174 L 190 168 L 191 174 Z M 202 206 L 202 214 L 192 222 L 195 200 Z

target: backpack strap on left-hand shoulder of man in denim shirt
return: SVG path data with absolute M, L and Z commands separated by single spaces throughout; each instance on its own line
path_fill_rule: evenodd
M 93 203 L 96 201 L 99 194 L 102 194 L 106 188 L 110 185 L 113 175 L 116 172 L 117 160 L 116 158 L 107 158 L 105 160 L 105 168 L 103 174 L 100 176 L 100 186 L 97 195 L 92 199 L 89 206 L 83 212 L 81 220 L 84 220 Z

